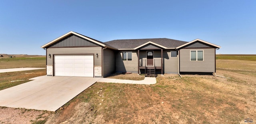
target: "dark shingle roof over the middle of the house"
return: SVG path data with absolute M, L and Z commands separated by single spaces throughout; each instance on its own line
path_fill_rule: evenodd
M 173 40 L 168 38 L 111 40 L 104 43 L 117 49 L 133 49 L 149 41 L 159 44 L 161 46 L 165 46 L 167 48 L 176 48 L 178 46 L 188 43 L 185 41 Z

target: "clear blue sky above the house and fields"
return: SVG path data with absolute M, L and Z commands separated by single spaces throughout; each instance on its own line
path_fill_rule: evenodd
M 256 54 L 256 0 L 0 0 L 0 54 L 45 55 L 74 31 L 96 40 L 196 38 Z

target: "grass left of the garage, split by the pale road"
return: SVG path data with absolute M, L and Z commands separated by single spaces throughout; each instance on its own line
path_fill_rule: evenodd
M 45 63 L 46 57 L 1 58 L 0 69 L 22 67 L 45 67 Z M 0 90 L 28 82 L 28 79 L 42 75 L 46 75 L 46 69 L 0 73 Z M 14 80 L 23 81 L 11 82 Z

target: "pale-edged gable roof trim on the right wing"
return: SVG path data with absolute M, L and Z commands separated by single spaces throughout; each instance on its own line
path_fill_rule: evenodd
M 182 49 L 182 48 L 185 48 L 187 46 L 195 47 L 196 45 L 193 46 L 193 44 L 196 44 L 196 43 L 202 43 L 204 46 L 210 46 L 212 48 L 221 48 L 220 46 L 212 44 L 210 42 L 206 42 L 204 40 L 196 39 L 196 40 L 192 40 L 191 42 L 188 42 L 186 44 L 183 44 L 181 46 L 178 46 L 178 47 L 176 47 L 176 49 Z

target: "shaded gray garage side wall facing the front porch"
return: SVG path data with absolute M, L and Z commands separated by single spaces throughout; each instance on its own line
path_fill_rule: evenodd
M 114 50 L 103 50 L 103 77 L 116 71 L 116 53 Z

